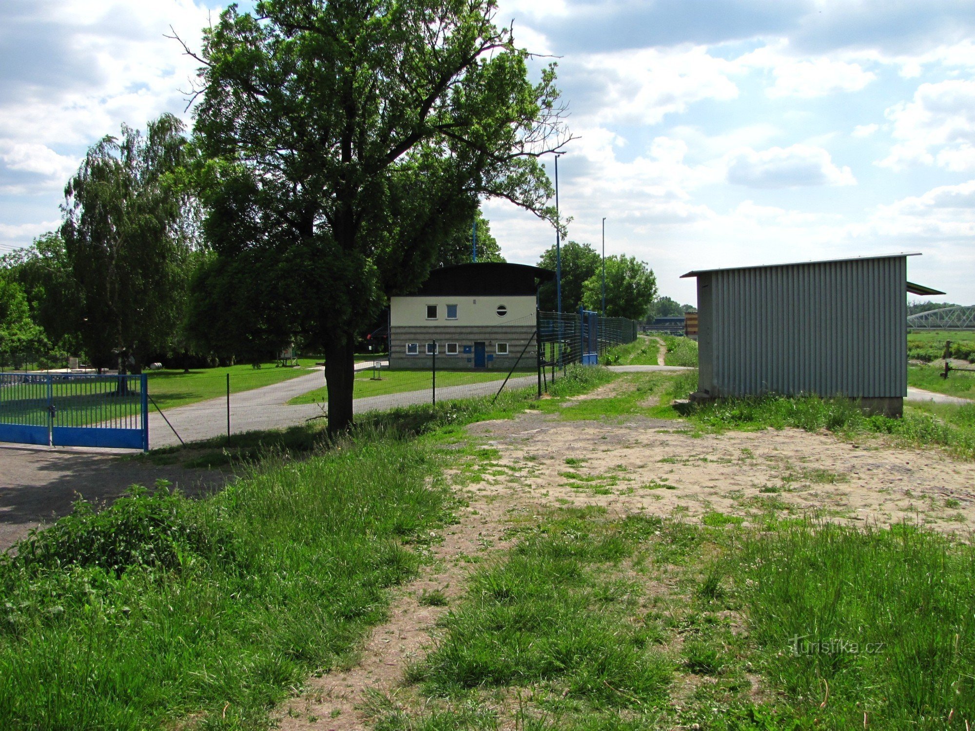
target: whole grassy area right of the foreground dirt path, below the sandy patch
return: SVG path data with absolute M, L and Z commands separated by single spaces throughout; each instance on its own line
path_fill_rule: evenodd
M 715 514 L 719 515 L 719 514 Z M 377 731 L 965 729 L 975 549 L 906 526 L 521 519 Z M 696 724 L 696 725 L 694 725 Z

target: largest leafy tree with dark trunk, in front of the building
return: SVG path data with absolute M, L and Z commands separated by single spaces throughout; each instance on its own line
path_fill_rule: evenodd
M 212 304 L 248 311 L 262 342 L 323 349 L 331 430 L 352 421 L 357 335 L 423 282 L 481 197 L 552 215 L 538 157 L 565 141 L 554 67 L 530 83 L 494 12 L 263 0 L 205 31 L 205 276 L 227 295 Z

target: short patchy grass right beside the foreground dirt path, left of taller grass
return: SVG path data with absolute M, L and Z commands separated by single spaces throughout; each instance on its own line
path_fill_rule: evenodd
M 424 692 L 458 696 L 487 687 L 543 684 L 557 704 L 610 717 L 664 696 L 670 669 L 655 622 L 633 622 L 637 582 L 606 576 L 660 521 L 593 522 L 563 511 L 479 571 L 469 598 L 448 615 L 446 637 L 411 678 Z

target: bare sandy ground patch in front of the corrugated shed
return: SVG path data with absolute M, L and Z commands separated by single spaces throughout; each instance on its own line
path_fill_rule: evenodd
M 754 523 L 812 514 L 880 526 L 907 520 L 962 533 L 975 525 L 975 465 L 939 452 L 798 429 L 694 438 L 683 433 L 686 426 L 542 414 L 475 424 L 471 433 L 497 447 L 506 468 L 476 489 L 687 519 L 719 512 Z

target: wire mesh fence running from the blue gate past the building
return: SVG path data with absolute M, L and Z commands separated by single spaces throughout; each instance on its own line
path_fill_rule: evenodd
M 606 349 L 632 341 L 638 331 L 633 321 L 584 312 L 539 312 L 490 335 L 454 330 L 411 338 L 416 342 L 404 342 L 403 352 L 393 359 L 388 354 L 361 359 L 355 365 L 354 412 L 492 397 L 529 387 L 540 395 L 568 365 L 595 364 Z M 471 342 L 465 344 L 465 337 Z M 235 434 L 325 419 L 324 371 L 314 358 L 289 365 L 151 371 L 150 446 L 232 440 Z

